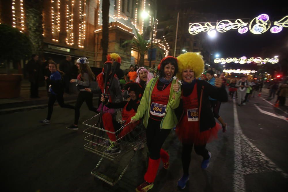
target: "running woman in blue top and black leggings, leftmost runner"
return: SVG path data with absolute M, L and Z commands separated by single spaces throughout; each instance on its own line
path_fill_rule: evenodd
M 43 121 L 40 121 L 41 123 L 44 123 L 44 124 L 50 124 L 50 119 L 51 119 L 51 115 L 53 112 L 53 105 L 56 100 L 58 101 L 58 104 L 62 108 L 75 109 L 74 106 L 64 103 L 64 98 L 63 98 L 64 85 L 63 85 L 61 74 L 57 70 L 57 64 L 54 61 L 50 60 L 48 64 L 48 69 L 51 72 L 51 75 L 50 77 L 47 77 L 47 76 L 44 76 L 44 77 L 45 77 L 47 85 L 49 85 L 49 92 L 51 94 L 49 95 L 47 118 L 44 119 Z

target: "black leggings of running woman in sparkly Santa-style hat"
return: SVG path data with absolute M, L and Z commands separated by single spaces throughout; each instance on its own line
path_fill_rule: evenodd
M 86 91 L 80 91 L 77 97 L 77 101 L 75 104 L 75 116 L 74 116 L 74 125 L 78 125 L 79 117 L 80 117 L 80 108 L 85 101 L 89 110 L 94 111 L 97 113 L 97 109 L 93 107 L 92 102 L 93 94 L 86 92 Z

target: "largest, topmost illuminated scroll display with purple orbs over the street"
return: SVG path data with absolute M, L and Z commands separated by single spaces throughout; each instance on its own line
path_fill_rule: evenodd
M 258 35 L 265 33 L 270 28 L 271 33 L 279 33 L 283 30 L 283 27 L 288 27 L 288 16 L 283 17 L 279 21 L 274 21 L 273 24 L 274 26 L 270 28 L 271 21 L 269 16 L 267 14 L 261 14 L 250 21 L 249 28 L 248 22 L 244 22 L 242 19 L 225 19 L 217 22 L 190 23 L 188 32 L 191 35 L 207 32 L 208 35 L 213 36 L 215 33 L 213 30 L 224 33 L 229 30 L 238 29 L 238 33 L 240 34 L 250 31 L 253 34 Z

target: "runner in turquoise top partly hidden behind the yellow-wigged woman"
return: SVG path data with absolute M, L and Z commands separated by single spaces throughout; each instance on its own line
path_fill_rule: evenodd
M 206 72 L 206 76 L 207 76 L 207 79 L 208 79 L 208 83 L 210 83 L 211 85 L 215 86 L 214 71 L 212 71 L 212 70 L 207 71 Z M 211 97 L 209 97 L 209 100 L 210 100 L 210 105 L 211 105 L 211 107 L 213 109 L 214 117 L 216 119 L 218 119 L 218 121 L 222 124 L 223 132 L 226 132 L 227 123 L 225 123 L 224 120 L 222 119 L 222 117 L 219 115 L 221 102 L 218 101 L 217 99 L 213 99 Z

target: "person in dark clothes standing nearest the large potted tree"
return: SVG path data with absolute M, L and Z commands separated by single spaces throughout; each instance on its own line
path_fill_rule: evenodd
M 30 81 L 30 98 L 39 98 L 38 87 L 39 87 L 39 73 L 40 73 L 39 56 L 36 54 L 32 55 L 32 59 L 27 63 L 27 72 Z

